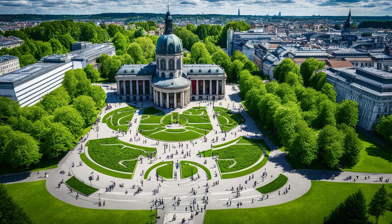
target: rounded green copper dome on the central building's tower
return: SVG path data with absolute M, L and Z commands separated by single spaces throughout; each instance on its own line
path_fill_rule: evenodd
M 175 54 L 182 51 L 182 45 L 180 39 L 174 35 L 162 35 L 156 42 L 156 53 L 161 55 Z

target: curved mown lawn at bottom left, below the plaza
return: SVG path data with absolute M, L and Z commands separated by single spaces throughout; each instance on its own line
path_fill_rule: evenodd
M 156 218 L 156 210 L 90 209 L 67 204 L 49 194 L 45 180 L 6 184 L 5 187 L 34 223 L 107 224 L 132 220 L 134 224 L 145 224 Z

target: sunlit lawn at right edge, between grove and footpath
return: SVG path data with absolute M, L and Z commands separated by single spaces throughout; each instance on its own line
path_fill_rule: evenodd
M 358 131 L 363 144 L 361 159 L 352 168 L 345 171 L 361 173 L 392 173 L 392 151 L 384 149 Z

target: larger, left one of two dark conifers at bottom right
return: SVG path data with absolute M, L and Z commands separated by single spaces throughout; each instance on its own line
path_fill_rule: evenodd
M 369 224 L 368 219 L 366 199 L 359 189 L 324 217 L 323 224 Z

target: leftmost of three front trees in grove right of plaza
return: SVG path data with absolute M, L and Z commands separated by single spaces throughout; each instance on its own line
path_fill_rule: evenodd
M 303 165 L 310 165 L 318 156 L 317 135 L 304 120 L 296 123 L 287 146 L 290 156 Z

